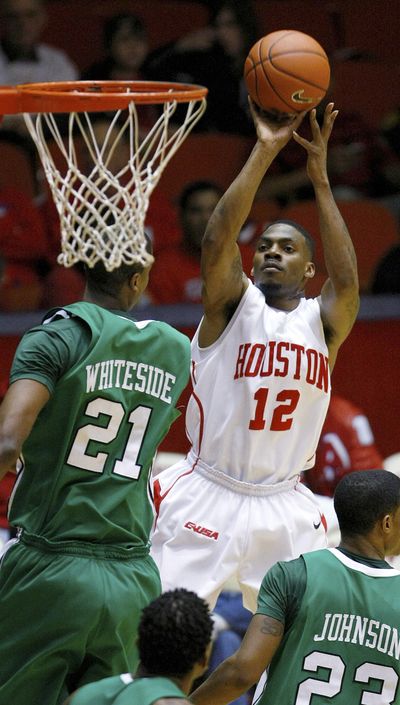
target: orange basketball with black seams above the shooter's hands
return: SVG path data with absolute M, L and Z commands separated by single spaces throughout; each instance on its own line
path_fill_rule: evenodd
M 328 90 L 329 60 L 313 37 L 282 29 L 252 46 L 245 61 L 244 79 L 250 98 L 263 110 L 311 110 Z

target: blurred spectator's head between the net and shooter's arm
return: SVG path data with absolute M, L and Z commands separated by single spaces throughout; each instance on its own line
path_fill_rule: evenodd
M 200 256 L 207 223 L 223 191 L 213 181 L 192 181 L 179 198 L 179 217 L 187 249 Z

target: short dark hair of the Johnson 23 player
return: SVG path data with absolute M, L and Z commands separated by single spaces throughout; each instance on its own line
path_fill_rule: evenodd
M 357 470 L 338 483 L 334 507 L 344 535 L 365 535 L 400 506 L 400 478 L 388 470 Z

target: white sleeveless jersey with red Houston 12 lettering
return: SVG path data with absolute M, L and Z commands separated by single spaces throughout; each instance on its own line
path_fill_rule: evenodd
M 312 467 L 330 399 L 319 304 L 291 312 L 266 304 L 250 282 L 220 338 L 192 341 L 191 455 L 208 469 L 275 484 Z

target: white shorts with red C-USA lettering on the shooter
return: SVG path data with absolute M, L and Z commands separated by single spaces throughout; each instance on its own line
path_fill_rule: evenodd
M 277 561 L 325 548 L 325 520 L 297 479 L 259 486 L 195 468 L 188 459 L 154 480 L 151 555 L 163 590 L 185 587 L 211 609 L 236 579 L 252 612 L 267 570 Z

